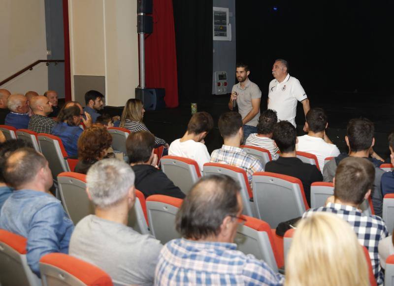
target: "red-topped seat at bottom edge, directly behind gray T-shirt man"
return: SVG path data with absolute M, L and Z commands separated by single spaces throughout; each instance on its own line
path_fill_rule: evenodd
M 65 253 L 41 257 L 43 286 L 112 286 L 111 277 L 99 267 Z

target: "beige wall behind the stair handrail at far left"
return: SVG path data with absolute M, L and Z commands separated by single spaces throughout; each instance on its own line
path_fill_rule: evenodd
M 1 0 L 0 38 L 0 81 L 37 60 L 45 60 L 44 0 Z M 39 64 L 1 88 L 11 93 L 35 90 L 42 94 L 48 89 L 48 69 Z

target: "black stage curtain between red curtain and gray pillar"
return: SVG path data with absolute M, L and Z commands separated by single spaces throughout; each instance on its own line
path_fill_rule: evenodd
M 212 94 L 212 0 L 173 0 L 179 101 Z

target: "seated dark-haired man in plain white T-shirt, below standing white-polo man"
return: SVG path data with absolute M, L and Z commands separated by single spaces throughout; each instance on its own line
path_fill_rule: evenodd
M 339 149 L 329 140 L 326 129 L 327 115 L 322 108 L 311 108 L 306 113 L 305 128 L 308 134 L 298 137 L 296 150 L 316 155 L 320 170 L 323 172 L 324 160 L 339 155 Z

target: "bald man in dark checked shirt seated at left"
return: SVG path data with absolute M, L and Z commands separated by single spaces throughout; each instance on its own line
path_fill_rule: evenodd
M 56 121 L 48 117 L 48 114 L 52 112 L 49 99 L 42 95 L 35 96 L 30 102 L 30 108 L 34 114 L 30 117 L 29 130 L 50 134 Z

